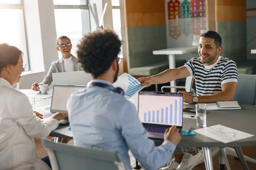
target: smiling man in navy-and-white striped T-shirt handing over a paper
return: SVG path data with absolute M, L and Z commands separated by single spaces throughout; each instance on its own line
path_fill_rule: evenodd
M 219 56 L 221 51 L 221 36 L 215 31 L 207 31 L 201 34 L 198 58 L 190 59 L 180 68 L 168 69 L 151 77 L 141 77 L 138 81 L 148 87 L 192 76 L 195 78 L 197 95 L 179 91 L 178 93 L 183 94 L 183 102 L 192 104 L 232 101 L 236 93 L 237 67 L 231 59 Z M 203 153 L 198 148 L 182 150 L 177 147 L 175 158 L 161 170 L 191 170 L 203 159 Z

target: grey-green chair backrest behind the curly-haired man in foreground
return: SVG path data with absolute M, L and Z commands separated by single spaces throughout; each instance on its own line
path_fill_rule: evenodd
M 118 151 L 98 150 L 42 139 L 52 170 L 125 170 Z

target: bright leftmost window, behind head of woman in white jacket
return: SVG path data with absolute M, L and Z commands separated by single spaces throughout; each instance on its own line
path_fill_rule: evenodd
M 23 62 L 29 70 L 22 0 L 0 0 L 0 43 L 8 43 L 23 51 Z

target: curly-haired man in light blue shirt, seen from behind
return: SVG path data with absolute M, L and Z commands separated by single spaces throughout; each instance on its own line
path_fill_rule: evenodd
M 67 103 L 74 144 L 101 150 L 118 150 L 126 170 L 131 170 L 128 150 L 147 170 L 169 161 L 181 136 L 173 126 L 160 147 L 148 139 L 135 106 L 115 91 L 121 41 L 112 31 L 85 35 L 77 51 L 81 68 L 91 74 L 88 87 L 70 96 Z

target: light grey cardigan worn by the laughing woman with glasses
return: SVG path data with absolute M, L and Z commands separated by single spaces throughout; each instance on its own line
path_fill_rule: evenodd
M 74 66 L 74 71 L 81 71 L 80 65 L 77 63 L 77 58 L 72 55 L 72 61 Z M 60 73 L 64 72 L 64 61 L 62 57 L 57 61 L 52 62 L 51 67 L 44 77 L 44 80 L 39 84 L 47 84 L 50 85 L 52 83 L 52 73 Z

